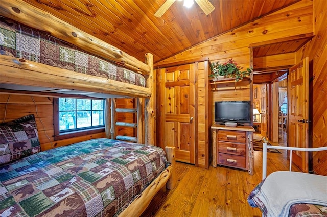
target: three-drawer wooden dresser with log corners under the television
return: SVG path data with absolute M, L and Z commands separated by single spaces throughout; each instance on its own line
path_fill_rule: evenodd
M 239 168 L 253 175 L 253 127 L 213 125 L 211 129 L 212 166 Z

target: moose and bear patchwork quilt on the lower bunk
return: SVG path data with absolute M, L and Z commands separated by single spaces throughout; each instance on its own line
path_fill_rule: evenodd
M 118 215 L 166 167 L 164 150 L 112 139 L 0 166 L 0 216 Z

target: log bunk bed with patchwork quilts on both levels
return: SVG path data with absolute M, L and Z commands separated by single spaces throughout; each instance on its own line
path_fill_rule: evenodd
M 137 100 L 138 112 L 144 107 L 145 119 L 145 126 L 137 128 L 137 135 L 142 138 L 137 141 L 145 144 L 102 138 L 41 151 L 33 115 L 2 124 L 0 153 L 8 152 L 11 146 L 18 154 L 0 163 L 1 216 L 52 216 L 52 212 L 63 216 L 139 216 L 162 187 L 175 187 L 174 147 L 166 147 L 163 151 L 151 145 L 155 144 L 152 54 L 147 53 L 143 63 L 21 0 L 2 1 L 0 19 L 3 22 L 0 26 L 0 91 L 32 90 L 33 94 L 40 95 L 65 92 L 99 98 L 145 99 L 144 105 Z M 4 31 L 10 32 L 9 35 Z M 11 36 L 14 35 L 16 38 L 12 40 L 19 43 L 17 37 L 27 41 L 24 34 L 31 36 L 31 33 L 30 41 L 27 45 L 22 43 L 20 50 L 10 46 Z M 42 52 L 36 50 L 35 53 L 33 46 L 32 52 L 27 51 L 27 46 L 35 41 L 43 43 L 45 39 L 50 43 L 43 48 L 57 45 L 56 49 L 63 51 L 61 58 L 67 61 L 69 57 L 65 56 L 65 51 L 69 53 L 75 49 L 82 57 L 79 60 L 102 62 L 106 71 L 114 68 L 115 73 L 109 70 L 103 74 L 101 70 L 82 67 L 85 66 L 83 62 L 57 61 L 57 64 L 48 58 L 43 58 L 42 62 Z M 114 101 L 111 102 L 114 116 Z M 113 124 L 108 125 L 113 135 Z M 20 136 L 16 137 L 24 137 L 21 136 L 24 134 L 26 140 L 13 138 L 12 133 L 17 129 Z M 139 179 L 141 175 L 145 180 Z M 136 186 L 132 187 L 133 182 Z M 129 200 L 123 200 L 123 196 Z M 109 205 L 112 203 L 114 205 Z

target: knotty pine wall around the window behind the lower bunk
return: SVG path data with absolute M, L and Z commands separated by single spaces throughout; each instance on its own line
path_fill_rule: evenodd
M 118 107 L 133 108 L 133 104 L 133 99 L 118 99 L 117 101 Z M 88 139 L 104 138 L 106 136 L 105 132 L 103 132 L 54 141 L 53 110 L 53 98 L 51 97 L 0 94 L 0 123 L 8 122 L 28 114 L 34 114 L 42 151 Z M 120 121 L 133 122 L 133 118 L 134 116 L 132 114 L 118 114 Z M 134 135 L 134 130 L 128 128 L 120 127 L 118 128 L 118 132 L 119 135 Z

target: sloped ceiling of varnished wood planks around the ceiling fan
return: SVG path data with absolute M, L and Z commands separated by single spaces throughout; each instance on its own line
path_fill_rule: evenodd
M 165 0 L 24 1 L 139 60 L 150 52 L 158 62 L 299 0 L 209 0 L 215 7 L 209 15 L 196 3 L 188 9 L 176 1 L 161 18 L 154 13 Z

